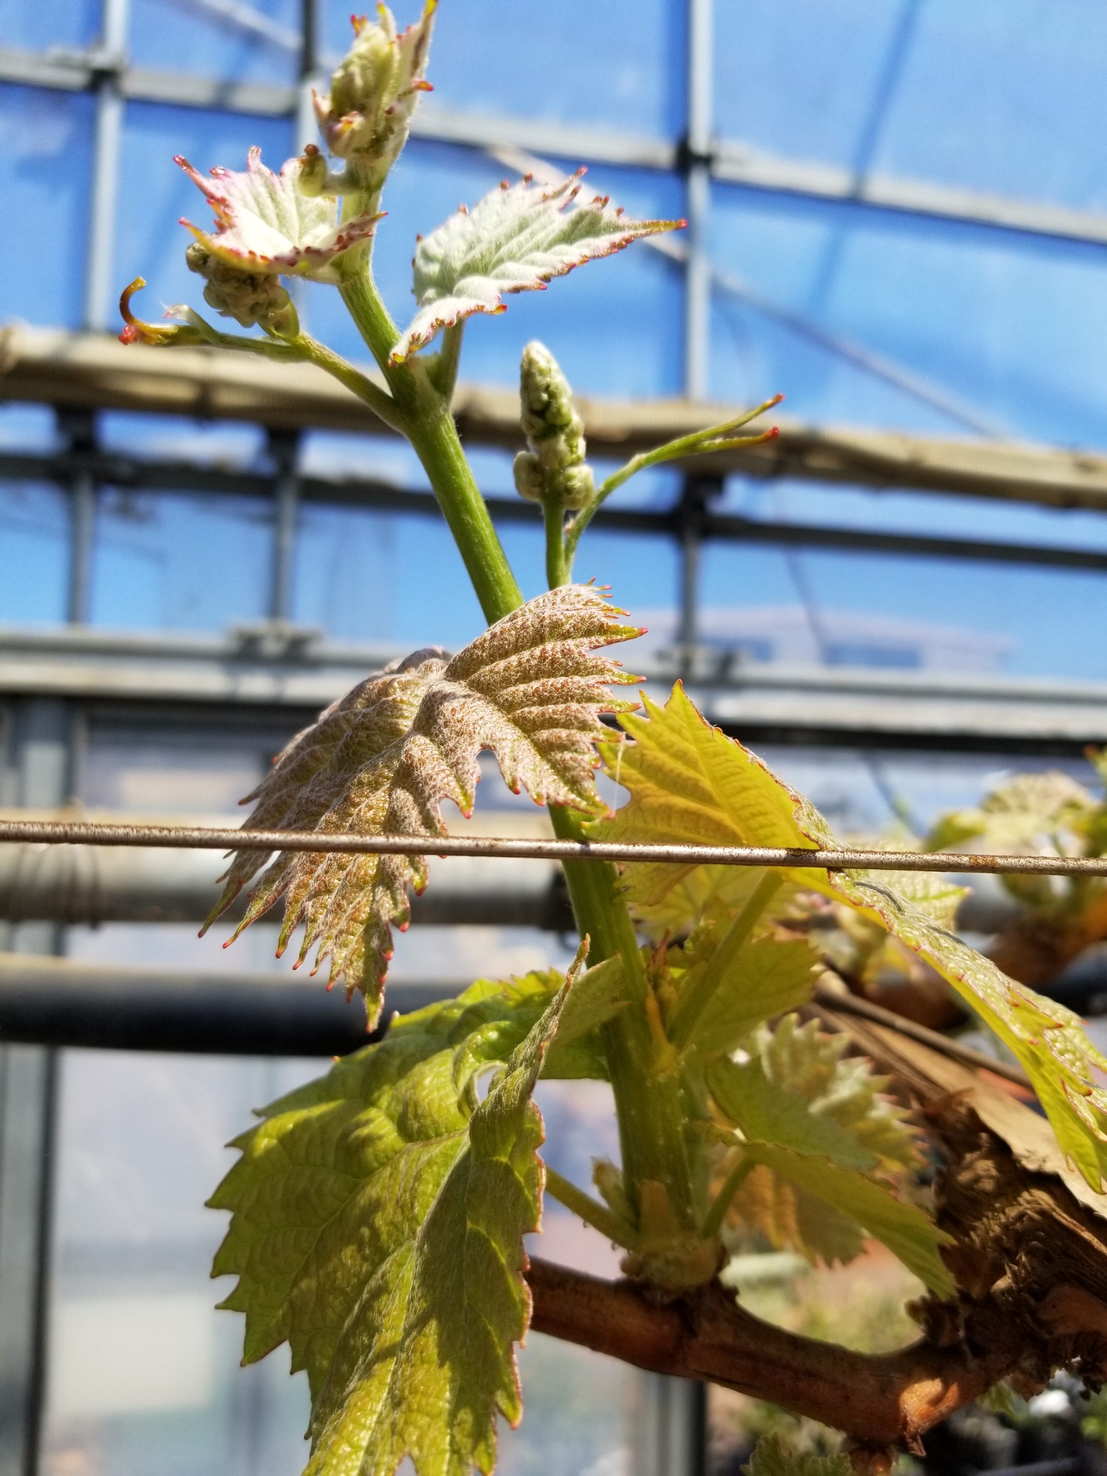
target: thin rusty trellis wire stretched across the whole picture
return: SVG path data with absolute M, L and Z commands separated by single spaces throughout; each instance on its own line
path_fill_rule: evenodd
M 788 846 L 648 846 L 620 841 L 506 840 L 499 835 L 338 835 L 320 831 L 220 830 L 204 825 L 111 825 L 0 821 L 0 841 L 46 846 L 154 846 L 180 850 L 306 850 L 353 856 L 493 856 L 512 861 L 661 862 L 673 866 L 787 866 L 819 871 L 942 871 L 1107 877 L 1107 856 L 990 856 L 974 852 L 819 850 Z

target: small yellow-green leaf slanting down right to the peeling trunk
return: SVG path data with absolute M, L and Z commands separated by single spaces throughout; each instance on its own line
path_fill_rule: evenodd
M 770 1080 L 762 1063 L 720 1057 L 707 1066 L 707 1086 L 723 1116 L 742 1134 L 742 1160 L 763 1168 L 856 1221 L 883 1241 L 934 1292 L 953 1280 L 939 1246 L 951 1237 L 915 1204 L 896 1199 L 869 1173 L 878 1160 L 831 1117 L 810 1111 L 800 1092 Z

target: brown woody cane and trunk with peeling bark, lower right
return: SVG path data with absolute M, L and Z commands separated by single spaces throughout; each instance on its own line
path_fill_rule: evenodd
M 809 1415 L 856 1442 L 862 1464 L 865 1452 L 921 1449 L 928 1429 L 999 1379 L 1032 1392 L 1063 1367 L 1107 1382 L 1107 1200 L 1067 1169 L 1045 1120 L 925 1045 L 819 1014 L 894 1073 L 946 1156 L 934 1200 L 956 1240 L 958 1296 L 921 1305 L 927 1336 L 869 1356 L 762 1322 L 717 1283 L 660 1302 L 543 1261 L 527 1275 L 531 1325 Z

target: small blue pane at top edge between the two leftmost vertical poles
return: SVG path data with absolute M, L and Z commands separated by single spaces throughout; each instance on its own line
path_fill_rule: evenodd
M 229 81 L 294 83 L 300 68 L 300 4 L 131 0 L 131 53 L 137 66 Z

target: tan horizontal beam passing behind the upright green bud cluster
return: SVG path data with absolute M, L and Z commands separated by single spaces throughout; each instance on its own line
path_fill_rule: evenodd
M 124 347 L 106 335 L 55 329 L 4 331 L 0 400 L 390 434 L 368 406 L 311 365 L 204 348 Z M 582 399 L 580 409 L 592 455 L 620 461 L 737 413 L 729 404 L 682 400 Z M 471 444 L 518 449 L 514 390 L 462 385 L 455 410 Z M 1107 455 L 779 424 L 776 440 L 698 458 L 697 469 L 1107 511 Z

